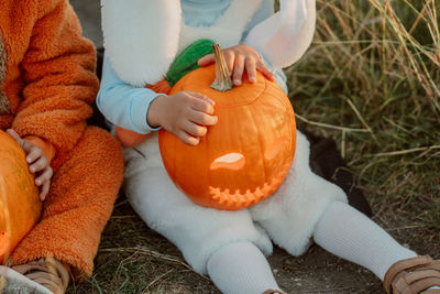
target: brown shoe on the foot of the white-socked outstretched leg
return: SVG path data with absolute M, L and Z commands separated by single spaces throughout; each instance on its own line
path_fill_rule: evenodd
M 384 287 L 388 294 L 440 294 L 440 260 L 416 257 L 394 263 L 385 274 Z

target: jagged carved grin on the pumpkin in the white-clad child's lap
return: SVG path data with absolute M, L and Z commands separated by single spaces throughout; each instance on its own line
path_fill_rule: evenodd
M 229 188 L 222 190 L 221 188 L 209 187 L 209 194 L 212 196 L 212 199 L 219 199 L 219 204 L 224 204 L 227 202 L 229 206 L 249 207 L 271 196 L 283 183 L 290 165 L 292 161 L 286 163 L 282 172 L 276 177 L 271 178 L 270 183 L 264 183 L 263 187 L 258 186 L 254 192 L 246 189 L 246 192 L 242 194 L 240 189 L 237 189 L 234 193 L 230 193 Z

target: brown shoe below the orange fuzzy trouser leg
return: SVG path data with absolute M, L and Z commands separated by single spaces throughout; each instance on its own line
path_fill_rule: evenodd
M 11 269 L 43 285 L 54 294 L 64 294 L 69 282 L 68 268 L 53 258 L 42 258 L 11 266 Z

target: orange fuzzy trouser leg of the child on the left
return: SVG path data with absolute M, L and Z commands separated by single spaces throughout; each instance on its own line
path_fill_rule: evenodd
M 86 129 L 68 160 L 53 177 L 43 219 L 12 253 L 21 264 L 54 257 L 89 276 L 101 231 L 110 217 L 122 179 L 122 155 L 109 133 Z

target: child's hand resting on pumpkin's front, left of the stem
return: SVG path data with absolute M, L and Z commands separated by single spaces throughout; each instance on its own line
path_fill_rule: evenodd
M 184 143 L 197 145 L 207 133 L 206 126 L 217 123 L 213 105 L 208 97 L 193 91 L 158 96 L 151 102 L 146 120 L 150 126 L 162 126 Z

